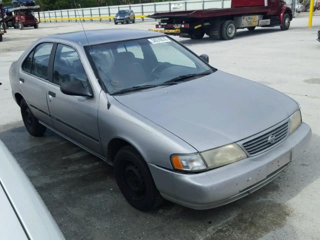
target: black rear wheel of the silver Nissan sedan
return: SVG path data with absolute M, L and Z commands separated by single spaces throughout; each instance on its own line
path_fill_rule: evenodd
M 29 106 L 26 104 L 25 100 L 22 98 L 20 102 L 21 116 L 26 130 L 32 136 L 42 136 L 46 130 L 46 127 L 41 125 L 38 119 L 33 116 Z

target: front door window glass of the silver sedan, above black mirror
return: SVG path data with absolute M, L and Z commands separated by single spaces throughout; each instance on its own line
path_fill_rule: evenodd
M 87 76 L 78 53 L 73 47 L 58 44 L 53 62 L 53 83 L 60 85 L 65 81 L 79 80 L 84 84 Z

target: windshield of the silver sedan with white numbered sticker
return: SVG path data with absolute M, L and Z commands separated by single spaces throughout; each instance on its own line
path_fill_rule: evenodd
M 185 80 L 189 74 L 194 78 L 196 74 L 213 72 L 197 56 L 166 36 L 91 45 L 86 50 L 110 94 L 135 86 Z

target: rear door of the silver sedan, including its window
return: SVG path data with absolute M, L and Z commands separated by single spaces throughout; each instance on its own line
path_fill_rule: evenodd
M 19 89 L 30 106 L 33 115 L 40 121 L 52 125 L 46 101 L 48 64 L 53 49 L 52 42 L 37 45 L 24 58 L 19 69 Z

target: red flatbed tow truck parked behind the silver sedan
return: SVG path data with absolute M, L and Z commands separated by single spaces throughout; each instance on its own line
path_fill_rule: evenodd
M 292 9 L 283 0 L 231 0 L 229 8 L 159 12 L 148 17 L 160 19 L 157 29 L 150 30 L 191 39 L 201 39 L 206 34 L 213 39 L 230 40 L 239 28 L 252 31 L 256 26 L 280 26 L 287 30 Z

